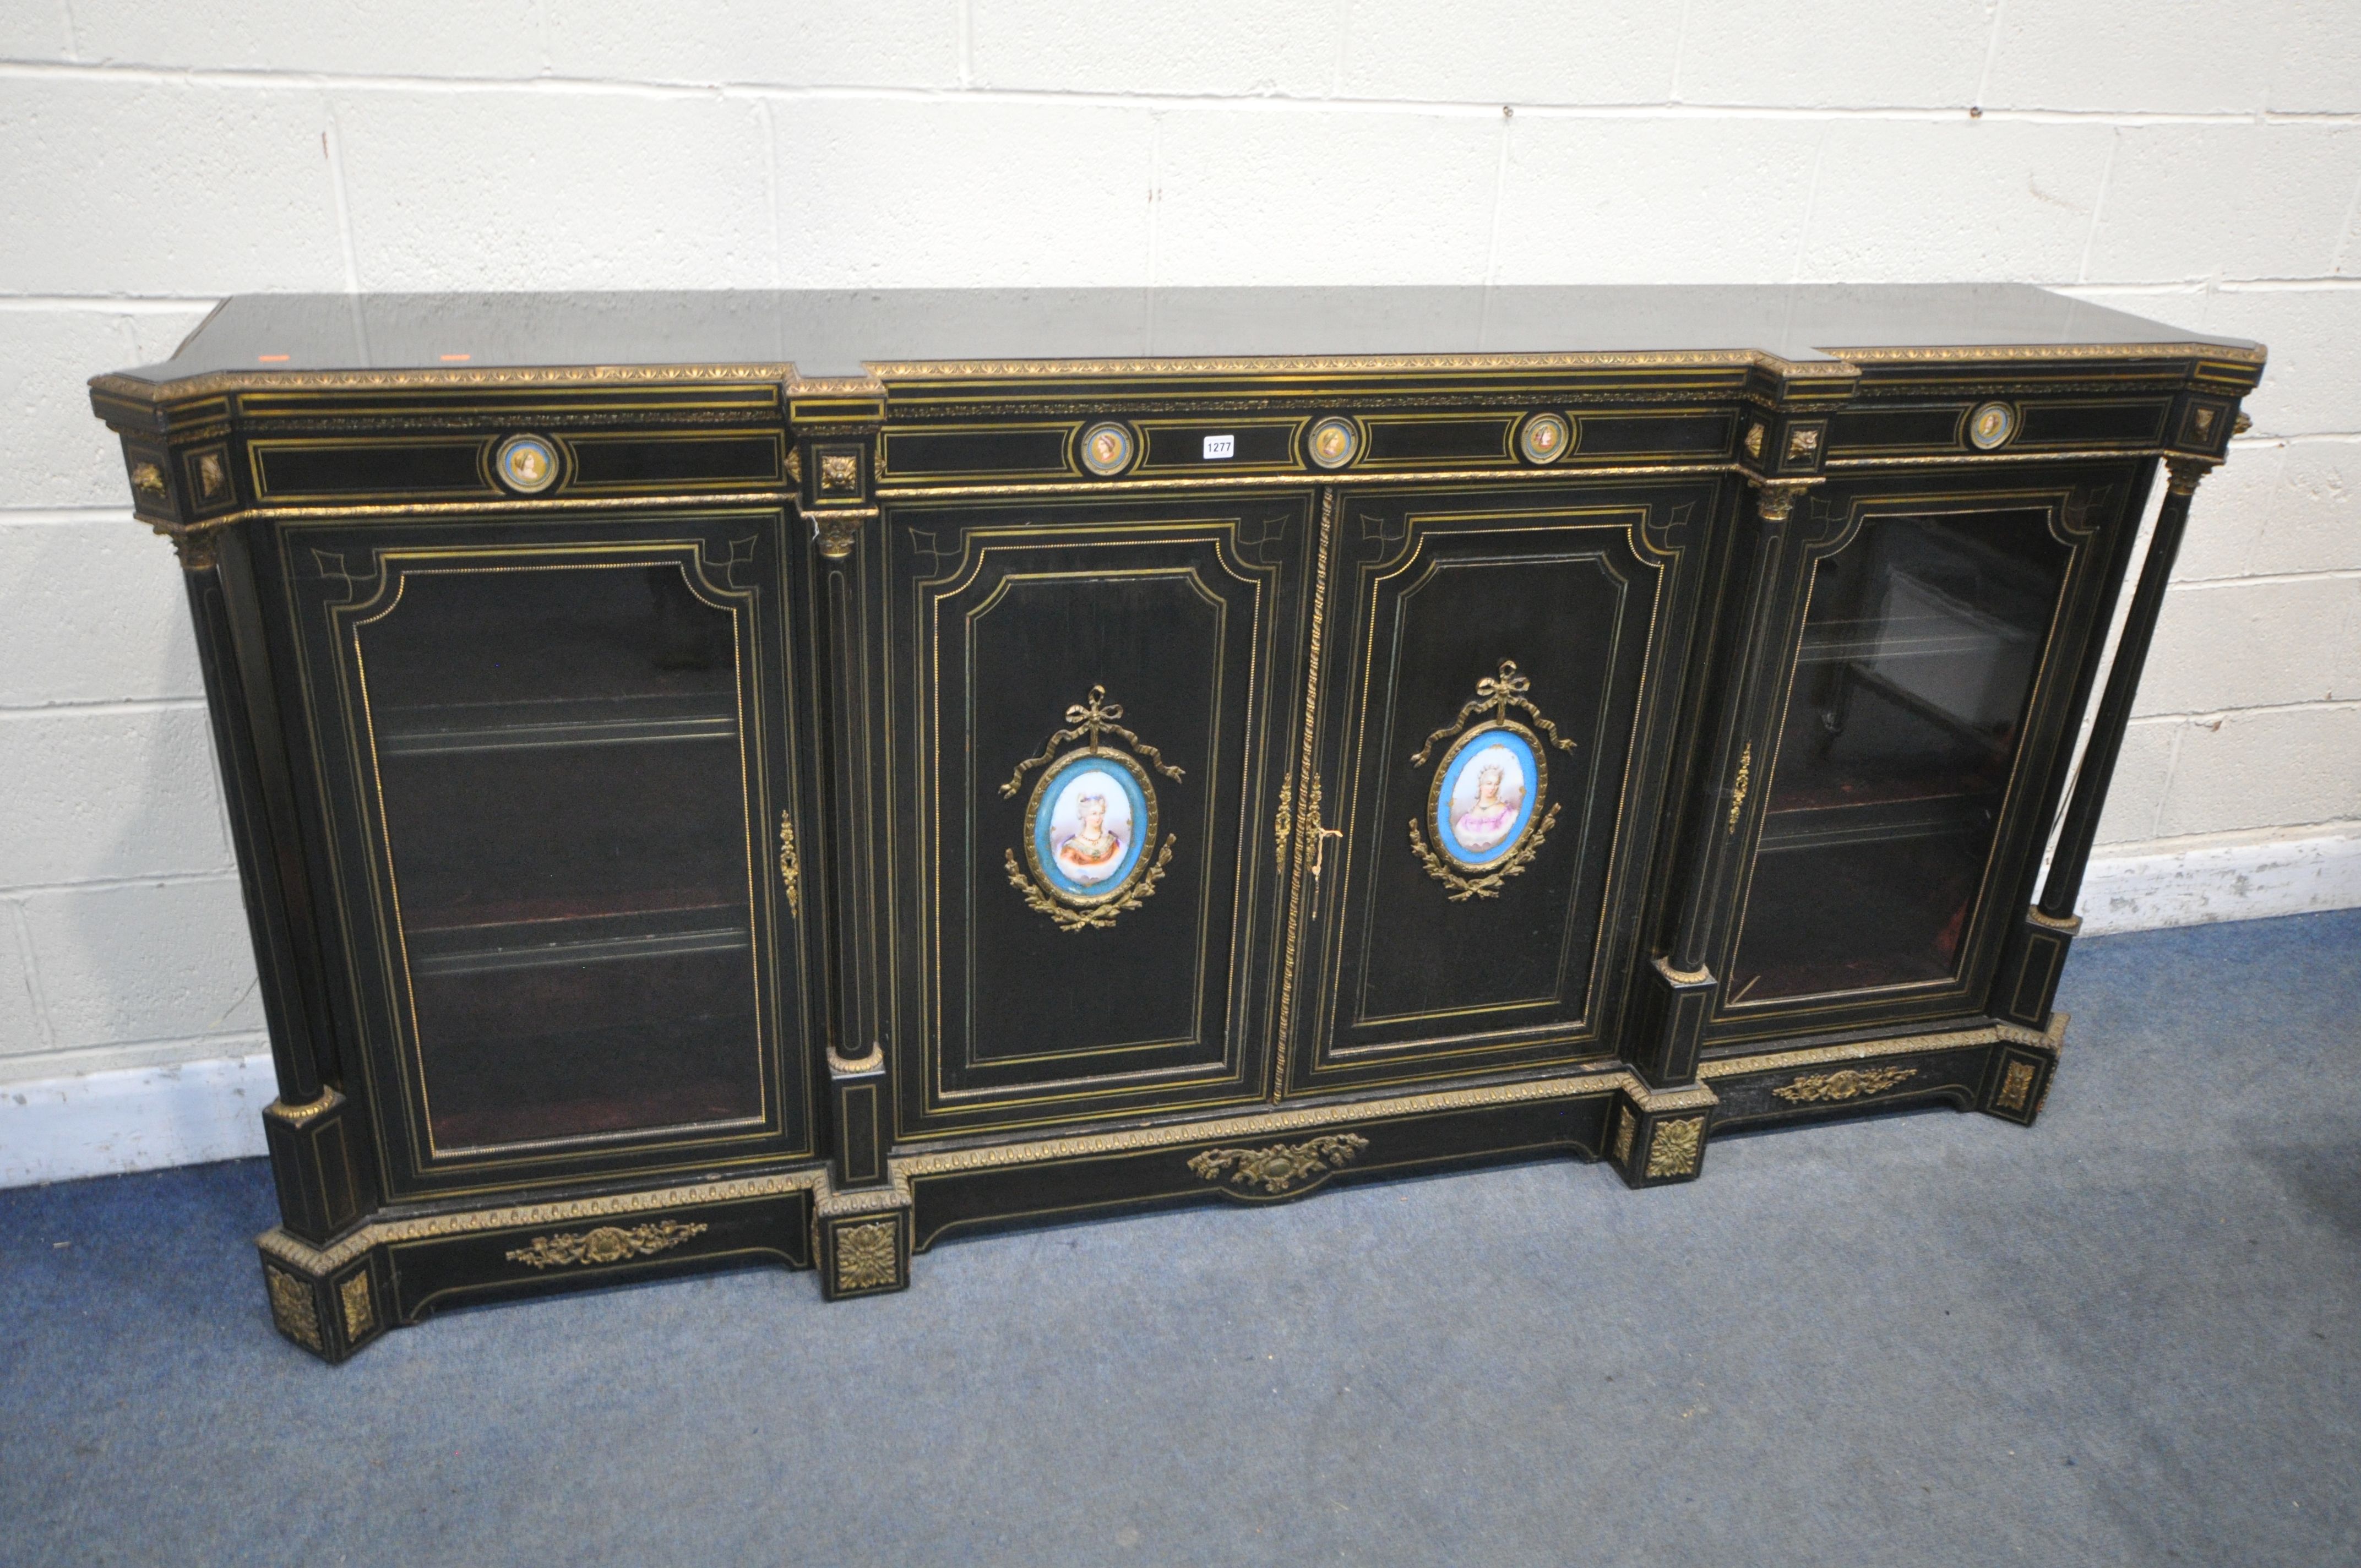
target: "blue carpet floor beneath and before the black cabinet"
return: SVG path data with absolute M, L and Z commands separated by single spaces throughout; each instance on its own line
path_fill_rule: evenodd
M 260 1162 L 0 1193 L 7 1563 L 2356 1563 L 2361 912 L 2082 942 L 1948 1110 L 264 1318 Z

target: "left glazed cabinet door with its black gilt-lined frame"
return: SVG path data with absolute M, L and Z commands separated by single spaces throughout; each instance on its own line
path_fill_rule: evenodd
M 394 1193 L 810 1148 L 781 527 L 283 529 Z

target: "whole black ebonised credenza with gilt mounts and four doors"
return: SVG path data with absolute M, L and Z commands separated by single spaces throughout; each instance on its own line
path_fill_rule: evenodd
M 2014 286 L 231 300 L 92 404 L 187 569 L 272 1315 L 2030 1124 L 2262 359 Z

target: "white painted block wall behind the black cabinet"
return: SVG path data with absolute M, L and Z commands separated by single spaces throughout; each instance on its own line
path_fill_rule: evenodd
M 2021 279 L 2262 338 L 2120 928 L 2361 902 L 2356 196 L 2356 0 L 0 0 L 0 1181 L 260 1148 L 179 569 L 83 392 L 224 293 Z

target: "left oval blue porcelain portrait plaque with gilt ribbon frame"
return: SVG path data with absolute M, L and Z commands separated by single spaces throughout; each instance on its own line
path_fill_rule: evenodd
M 1025 775 L 1041 770 L 1025 803 L 1025 862 L 1018 864 L 1018 852 L 1008 850 L 1006 864 L 1008 886 L 1058 930 L 1114 926 L 1117 916 L 1155 895 L 1173 860 L 1178 834 L 1157 841 L 1157 784 L 1150 772 L 1173 782 L 1183 775 L 1162 751 L 1114 723 L 1121 716 L 1124 704 L 1107 701 L 1107 687 L 1091 687 L 1088 701 L 1065 711 L 1067 727 L 1001 784 L 1001 798 L 1013 801 L 1025 789 Z M 1124 744 L 1110 746 L 1110 737 Z

